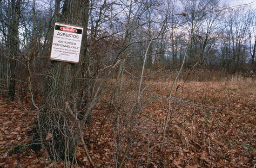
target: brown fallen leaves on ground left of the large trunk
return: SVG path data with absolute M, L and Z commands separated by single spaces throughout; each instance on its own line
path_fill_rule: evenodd
M 6 99 L 6 94 L 0 94 L 0 167 L 43 167 L 41 156 L 28 147 L 34 113 Z

